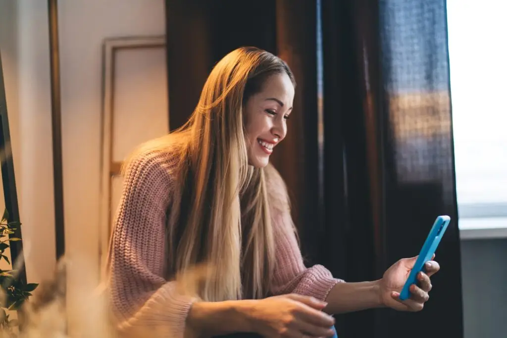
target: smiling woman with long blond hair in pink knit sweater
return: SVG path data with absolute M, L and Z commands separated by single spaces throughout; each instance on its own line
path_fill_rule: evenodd
M 422 309 L 437 262 L 404 302 L 399 291 L 415 258 L 361 283 L 304 266 L 283 180 L 269 164 L 287 132 L 295 85 L 278 57 L 237 49 L 211 71 L 189 122 L 126 161 L 108 256 L 121 330 L 330 336 L 330 314 Z M 193 296 L 175 276 L 198 264 L 210 269 Z

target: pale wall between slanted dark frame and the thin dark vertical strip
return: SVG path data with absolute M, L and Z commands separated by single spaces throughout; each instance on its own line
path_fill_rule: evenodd
M 0 22 L 26 274 L 39 282 L 55 262 L 47 4 L 0 0 Z

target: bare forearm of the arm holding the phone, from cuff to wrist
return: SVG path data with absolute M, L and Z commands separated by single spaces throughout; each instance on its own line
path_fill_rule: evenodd
M 379 281 L 337 283 L 328 294 L 324 309 L 329 314 L 354 312 L 382 306 Z

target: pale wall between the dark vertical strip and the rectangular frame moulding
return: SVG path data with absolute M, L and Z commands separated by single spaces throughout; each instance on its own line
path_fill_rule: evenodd
M 66 254 L 87 253 L 87 258 L 95 262 L 99 236 L 102 42 L 108 37 L 163 35 L 164 1 L 60 1 L 58 11 Z

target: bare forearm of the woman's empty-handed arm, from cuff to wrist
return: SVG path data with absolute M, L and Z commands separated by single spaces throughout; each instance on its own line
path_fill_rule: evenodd
M 255 301 L 197 302 L 187 318 L 187 335 L 211 337 L 253 329 L 248 320 L 248 308 Z

